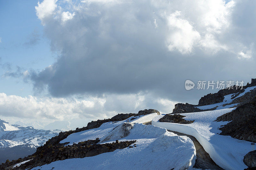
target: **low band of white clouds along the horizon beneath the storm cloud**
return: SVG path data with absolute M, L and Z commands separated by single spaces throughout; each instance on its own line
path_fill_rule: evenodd
M 145 108 L 160 108 L 168 112 L 174 107 L 173 102 L 164 100 L 159 102 L 149 93 L 138 94 L 108 94 L 102 97 L 84 97 L 86 100 L 76 98 L 37 98 L 29 95 L 20 97 L 0 93 L 0 118 L 12 117 L 17 120 L 26 118 L 52 122 L 72 119 L 97 120 L 111 118 L 118 113 L 138 113 Z M 148 103 L 152 101 L 152 103 Z M 162 101 L 162 100 L 161 100 Z M 156 108 L 157 109 L 157 108 Z

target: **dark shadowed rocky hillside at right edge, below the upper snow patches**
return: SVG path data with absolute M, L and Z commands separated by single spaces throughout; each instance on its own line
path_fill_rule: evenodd
M 220 135 L 256 142 L 256 101 L 239 106 L 216 121 L 232 121 L 220 128 Z

